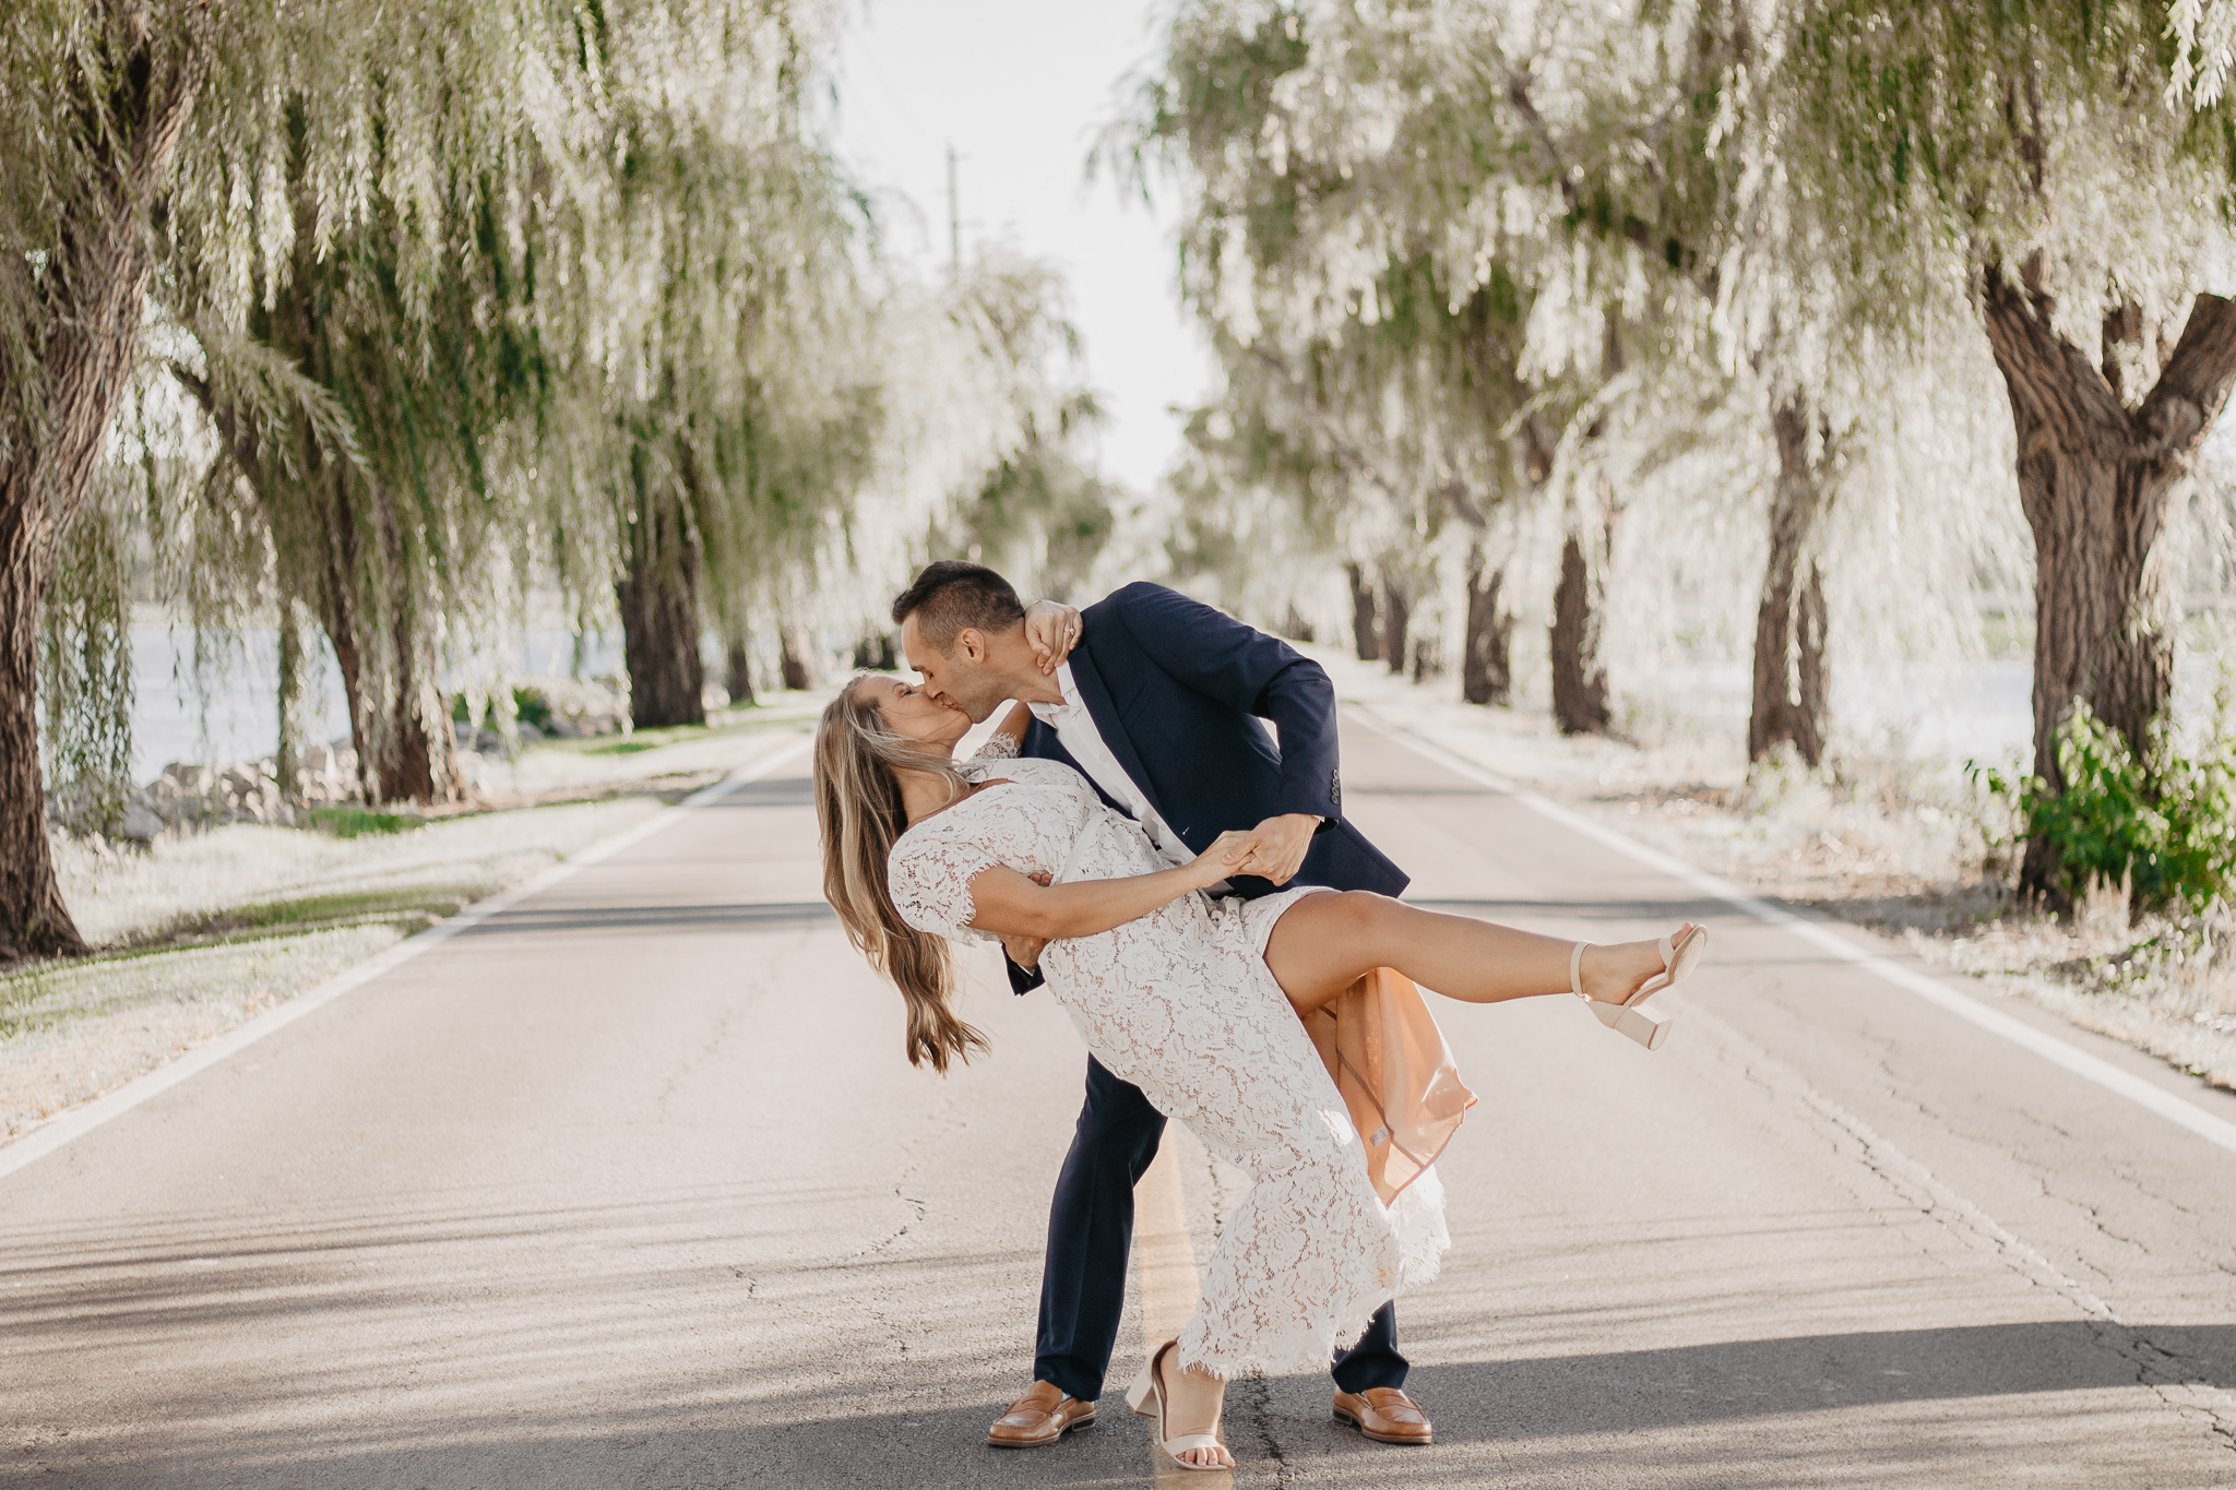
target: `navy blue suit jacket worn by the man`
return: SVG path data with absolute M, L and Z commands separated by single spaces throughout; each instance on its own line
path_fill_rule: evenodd
M 1326 822 L 1290 885 L 1384 896 L 1406 887 L 1406 873 L 1344 820 L 1335 684 L 1317 661 L 1147 581 L 1096 601 L 1082 617 L 1084 634 L 1069 657 L 1080 701 L 1181 842 L 1203 853 L 1228 829 L 1313 813 Z M 1281 728 L 1279 746 L 1259 719 Z M 1040 719 L 1026 726 L 1022 753 L 1078 768 Z M 1109 802 L 1100 786 L 1096 795 Z M 1266 896 L 1275 885 L 1237 876 L 1234 889 Z M 1011 965 L 1017 992 L 1038 983 L 1038 972 Z

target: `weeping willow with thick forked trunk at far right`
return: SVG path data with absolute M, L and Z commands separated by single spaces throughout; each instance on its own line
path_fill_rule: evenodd
M 2035 773 L 2053 791 L 2077 701 L 2138 751 L 2167 710 L 2160 538 L 2236 384 L 2236 302 L 2202 288 L 2229 264 L 2236 143 L 2218 105 L 2185 101 L 2209 96 L 2227 38 L 2216 54 L 2198 18 L 2156 0 L 1813 0 L 1769 18 L 1764 65 L 1728 101 L 1775 210 L 1863 290 L 1856 324 L 1914 337 L 1954 297 L 1995 357 L 2035 541 Z M 2055 894 L 2046 840 L 2024 878 Z

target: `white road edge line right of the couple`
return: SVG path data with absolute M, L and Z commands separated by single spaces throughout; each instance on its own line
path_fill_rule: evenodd
M 1957 1019 L 1979 1025 L 1988 1034 L 1995 1034 L 1999 1039 L 2010 1041 L 2012 1045 L 2030 1050 L 2039 1054 L 2044 1061 L 2050 1061 L 2053 1066 L 2062 1066 L 2082 1081 L 2093 1081 L 2095 1086 L 2102 1086 L 2109 1092 L 2126 1097 L 2135 1106 L 2147 1108 L 2164 1117 L 2167 1121 L 2187 1128 L 2189 1133 L 2196 1133 L 2207 1144 L 2218 1144 L 2220 1148 L 2236 1153 L 2236 1124 L 2232 1124 L 2229 1119 L 2216 1117 L 2214 1112 L 2207 1112 L 2194 1101 L 2185 1101 L 2160 1086 L 2151 1086 L 2142 1077 L 2120 1070 L 2104 1057 L 2088 1054 L 2086 1050 L 2068 1041 L 2062 1041 L 2046 1030 L 2037 1030 L 2024 1019 L 2012 1019 L 2001 1010 L 1992 1010 L 1979 999 L 1963 994 L 1954 987 L 1948 987 L 1939 978 L 1927 978 L 1925 974 L 1903 967 L 1892 958 L 1885 958 L 1876 952 L 1865 952 L 1863 947 L 1856 947 L 1845 936 L 1840 936 L 1838 932 L 1834 932 L 1822 923 L 1809 920 L 1807 916 L 1796 916 L 1784 907 L 1771 905 L 1760 896 L 1746 894 L 1731 880 L 1713 876 L 1706 869 L 1695 869 L 1681 858 L 1661 853 L 1659 849 L 1648 849 L 1635 838 L 1628 838 L 1605 824 L 1592 822 L 1583 813 L 1570 811 L 1558 802 L 1543 797 L 1529 791 L 1527 786 L 1498 775 L 1496 771 L 1489 771 L 1487 766 L 1478 766 L 1465 755 L 1447 746 L 1440 746 L 1438 742 L 1429 739 L 1427 735 L 1420 735 L 1418 730 L 1411 730 L 1393 719 L 1384 719 L 1364 704 L 1353 701 L 1351 708 L 1366 722 L 1368 728 L 1389 735 L 1393 739 L 1400 739 L 1402 744 L 1420 751 L 1422 755 L 1438 762 L 1447 771 L 1465 775 L 1474 782 L 1482 782 L 1491 791 L 1500 791 L 1514 797 L 1516 802 L 1538 813 L 1541 818 L 1550 818 L 1565 829 L 1583 833 L 1585 838 L 1605 844 L 1608 849 L 1614 849 L 1617 853 L 1639 865 L 1646 865 L 1648 869 L 1659 869 L 1666 876 L 1684 880 L 1693 889 L 1722 900 L 1724 905 L 1744 916 L 1753 916 L 1755 920 L 1773 925 L 1782 932 L 1791 932 L 1802 940 L 1811 943 L 1813 947 L 1840 958 L 1842 963 L 1863 967 L 1865 972 L 1887 983 L 1894 983 L 1896 987 L 1912 992 L 1918 999 L 1925 999 L 1934 1007 L 1948 1010 Z

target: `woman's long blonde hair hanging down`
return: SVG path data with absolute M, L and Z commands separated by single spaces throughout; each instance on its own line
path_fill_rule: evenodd
M 955 958 L 948 938 L 901 920 L 885 882 L 885 856 L 908 831 L 899 771 L 930 771 L 961 793 L 964 773 L 892 733 L 872 699 L 859 697 L 856 672 L 816 726 L 816 822 L 823 829 L 823 898 L 839 911 L 847 940 L 892 978 L 908 1001 L 908 1063 L 946 1074 L 948 1061 L 988 1050 L 986 1037 L 955 1016 Z

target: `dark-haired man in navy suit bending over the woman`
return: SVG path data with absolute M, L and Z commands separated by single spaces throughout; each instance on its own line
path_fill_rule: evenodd
M 1163 585 L 1134 583 L 1084 612 L 1033 608 L 984 565 L 941 561 L 892 603 L 923 690 L 984 722 L 1033 710 L 1024 755 L 1078 768 L 1172 862 L 1219 833 L 1250 838 L 1228 880 L 1263 896 L 1301 878 L 1395 896 L 1406 876 L 1342 818 L 1335 686 L 1288 643 Z M 1044 641 L 1046 646 L 1035 646 Z M 1279 748 L 1259 719 L 1279 728 Z M 1040 985 L 1038 943 L 1008 943 L 1011 985 Z M 1096 1416 L 1125 1307 L 1134 1184 L 1165 1117 L 1087 1059 L 1087 1104 L 1049 1206 L 1033 1387 L 988 1430 L 997 1448 L 1055 1443 Z M 1404 1394 L 1398 1318 L 1384 1305 L 1333 1369 L 1335 1416 L 1377 1443 L 1429 1443 Z

